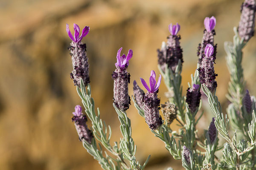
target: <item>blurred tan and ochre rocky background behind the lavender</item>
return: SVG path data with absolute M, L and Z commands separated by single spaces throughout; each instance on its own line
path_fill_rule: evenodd
M 229 74 L 224 41 L 233 40 L 233 26 L 240 19 L 241 0 L 12 0 L 0 1 L 0 169 L 1 170 L 99 170 L 100 166 L 82 147 L 71 121 L 80 104 L 70 79 L 72 64 L 67 47 L 66 23 L 90 26 L 87 44 L 92 95 L 102 119 L 111 125 L 111 143 L 119 141 L 119 121 L 112 106 L 116 52 L 134 51 L 128 71 L 131 82 L 151 70 L 157 74 L 157 48 L 166 41 L 168 25 L 181 26 L 183 93 L 195 72 L 198 43 L 204 18 L 214 15 L 218 53 L 217 95 L 227 106 Z M 71 32 L 73 30 L 71 29 Z M 256 94 L 256 38 L 244 48 L 244 74 L 251 94 Z M 132 95 L 132 83 L 129 85 Z M 161 102 L 166 98 L 160 86 Z M 133 105 L 133 103 L 132 103 Z M 225 111 L 225 109 L 223 109 Z M 207 128 L 211 113 L 204 113 L 199 129 Z M 154 137 L 145 120 L 131 106 L 137 160 L 151 159 L 147 170 L 181 167 L 163 142 Z M 175 124 L 172 127 L 175 129 Z

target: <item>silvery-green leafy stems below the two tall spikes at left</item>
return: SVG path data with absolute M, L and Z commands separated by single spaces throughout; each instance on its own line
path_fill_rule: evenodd
M 99 108 L 97 108 L 97 114 L 95 112 L 95 104 L 91 97 L 90 84 L 88 84 L 86 88 L 84 82 L 81 80 L 80 88 L 77 87 L 77 93 L 82 100 L 88 118 L 92 122 L 93 136 L 101 143 L 98 144 L 98 147 L 94 138 L 91 144 L 82 140 L 83 146 L 87 152 L 90 153 L 94 159 L 99 161 L 99 164 L 104 170 L 143 170 L 149 161 L 150 155 L 143 165 L 140 165 L 140 163 L 136 161 L 136 145 L 134 145 L 134 141 L 131 137 L 131 120 L 127 117 L 126 112 L 120 111 L 113 105 L 121 123 L 120 130 L 123 138 L 120 139 L 119 146 L 118 142 L 114 142 L 112 146 L 110 144 L 111 127 L 107 126 L 106 123 L 100 119 Z M 109 156 L 106 151 L 104 155 L 102 146 L 113 156 Z M 127 160 L 129 164 L 125 160 Z

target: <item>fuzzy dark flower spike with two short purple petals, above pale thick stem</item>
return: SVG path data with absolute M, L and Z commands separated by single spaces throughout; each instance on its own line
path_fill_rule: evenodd
M 179 59 L 183 63 L 182 49 L 180 47 L 180 35 L 177 35 L 180 31 L 180 25 L 169 25 L 169 32 L 171 35 L 168 36 L 167 45 L 162 46 L 158 49 L 158 64 L 160 65 L 162 71 L 165 71 L 166 64 L 168 68 L 175 72 L 178 65 Z

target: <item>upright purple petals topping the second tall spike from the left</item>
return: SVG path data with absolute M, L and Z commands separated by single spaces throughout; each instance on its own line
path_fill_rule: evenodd
M 122 47 L 119 48 L 119 50 L 117 51 L 117 55 L 116 55 L 117 62 L 115 63 L 115 65 L 116 65 L 116 68 L 119 68 L 120 70 L 124 70 L 129 65 L 129 59 L 131 59 L 133 51 L 129 49 L 127 56 L 125 54 L 120 56 L 121 51 L 122 51 Z

